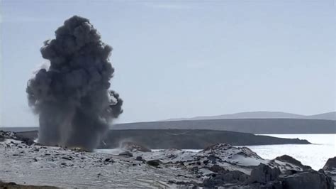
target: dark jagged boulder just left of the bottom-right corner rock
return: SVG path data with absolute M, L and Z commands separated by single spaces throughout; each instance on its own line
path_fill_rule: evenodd
M 267 183 L 278 178 L 280 173 L 279 168 L 271 168 L 260 163 L 259 166 L 252 170 L 249 181 L 250 183 Z

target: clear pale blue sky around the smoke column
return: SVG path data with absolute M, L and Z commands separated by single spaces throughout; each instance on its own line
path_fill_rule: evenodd
M 1 126 L 38 126 L 26 83 L 65 19 L 113 46 L 119 122 L 335 111 L 333 1 L 1 1 Z

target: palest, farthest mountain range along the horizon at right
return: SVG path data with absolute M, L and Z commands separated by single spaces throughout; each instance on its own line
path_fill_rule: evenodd
M 191 118 L 166 119 L 162 121 L 182 121 L 182 120 L 208 120 L 208 119 L 325 119 L 336 120 L 336 112 L 315 114 L 305 116 L 301 114 L 291 114 L 286 112 L 241 112 L 236 114 L 223 114 L 218 116 L 203 116 Z

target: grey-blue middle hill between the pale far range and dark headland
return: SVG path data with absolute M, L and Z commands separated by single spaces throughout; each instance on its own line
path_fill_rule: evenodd
M 336 121 L 323 119 L 202 119 L 116 124 L 113 129 L 211 129 L 252 134 L 336 134 Z

